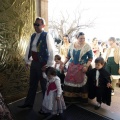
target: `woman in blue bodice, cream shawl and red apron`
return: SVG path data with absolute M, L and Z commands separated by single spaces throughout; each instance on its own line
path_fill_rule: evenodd
M 70 60 L 64 81 L 64 99 L 67 103 L 87 103 L 86 72 L 93 59 L 90 45 L 85 42 L 85 35 L 79 32 L 77 40 L 71 44 L 64 64 Z

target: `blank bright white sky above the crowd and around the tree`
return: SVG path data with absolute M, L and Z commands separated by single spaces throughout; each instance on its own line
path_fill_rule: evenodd
M 82 22 L 95 19 L 94 27 L 83 31 L 86 37 L 107 40 L 114 36 L 120 38 L 120 0 L 49 0 L 49 16 L 60 16 L 66 11 L 73 16 L 73 11 L 81 11 Z

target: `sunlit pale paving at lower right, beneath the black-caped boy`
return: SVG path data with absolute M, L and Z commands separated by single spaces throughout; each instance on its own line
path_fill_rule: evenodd
M 120 120 L 120 88 L 119 87 L 116 87 L 115 95 L 112 96 L 111 106 L 102 104 L 99 110 L 94 110 L 94 105 L 96 103 L 96 100 L 95 99 L 90 100 L 89 102 L 90 104 L 88 106 L 83 106 L 83 107 L 93 112 L 113 118 L 114 120 Z

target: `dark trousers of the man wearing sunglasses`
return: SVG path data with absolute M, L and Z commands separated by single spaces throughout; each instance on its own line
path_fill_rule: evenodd
M 29 83 L 28 94 L 27 94 L 27 97 L 26 97 L 26 100 L 25 100 L 25 105 L 33 106 L 39 81 L 40 81 L 40 84 L 41 84 L 43 97 L 45 95 L 47 81 L 45 79 L 43 79 L 43 77 L 42 77 L 41 68 L 43 66 L 44 65 L 42 63 L 40 63 L 40 62 L 32 61 L 32 63 L 31 63 L 31 67 L 30 67 L 30 83 Z

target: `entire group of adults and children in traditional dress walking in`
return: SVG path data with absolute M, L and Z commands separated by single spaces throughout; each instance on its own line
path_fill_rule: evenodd
M 54 40 L 44 27 L 45 20 L 36 18 L 36 32 L 30 37 L 25 55 L 26 67 L 30 67 L 29 90 L 25 103 L 18 107 L 33 108 L 39 81 L 43 95 L 40 114 L 60 115 L 66 104 L 88 104 L 94 98 L 96 110 L 102 103 L 110 106 L 115 76 L 120 74 L 120 48 L 115 38 L 110 37 L 108 45 L 99 45 L 97 38 L 88 44 L 83 32 L 78 32 L 72 43 L 64 35 L 60 53 L 55 54 Z

